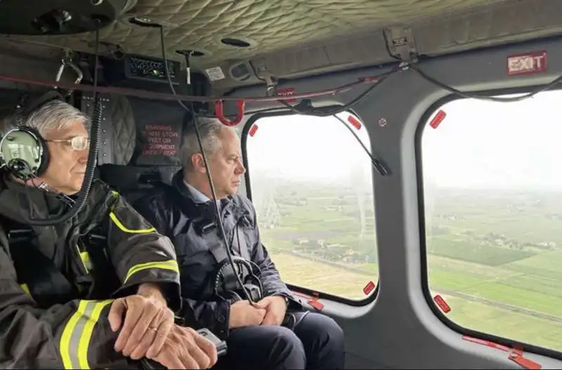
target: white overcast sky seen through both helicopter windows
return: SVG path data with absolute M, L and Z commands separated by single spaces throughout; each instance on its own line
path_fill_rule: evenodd
M 422 138 L 428 183 L 562 187 L 562 92 L 540 93 L 516 103 L 461 99 L 441 109 L 447 117 L 436 129 L 426 124 Z M 358 176 L 370 180 L 370 159 L 333 117 L 267 117 L 256 124 L 259 128 L 247 142 L 251 173 L 271 171 L 329 182 L 353 183 Z M 368 145 L 365 129 L 355 132 Z M 338 143 L 338 150 L 329 150 L 332 143 Z

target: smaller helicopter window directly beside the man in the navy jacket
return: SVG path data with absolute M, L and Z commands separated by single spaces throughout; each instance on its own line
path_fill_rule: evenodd
M 288 284 L 347 300 L 377 284 L 370 140 L 357 117 L 261 117 L 245 140 L 263 244 Z M 351 117 L 351 119 L 349 118 Z

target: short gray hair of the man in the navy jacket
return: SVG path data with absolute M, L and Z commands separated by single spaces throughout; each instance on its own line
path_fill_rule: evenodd
M 218 134 L 221 132 L 221 129 L 228 128 L 227 126 L 224 126 L 215 119 L 198 118 L 197 127 L 201 134 L 201 143 L 206 155 L 213 154 L 221 149 L 222 143 L 221 139 L 218 138 Z M 199 141 L 197 141 L 195 125 L 190 122 L 185 129 L 185 135 L 183 136 L 183 143 L 180 149 L 181 166 L 185 171 L 193 169 L 191 156 L 200 152 L 201 148 L 199 147 Z

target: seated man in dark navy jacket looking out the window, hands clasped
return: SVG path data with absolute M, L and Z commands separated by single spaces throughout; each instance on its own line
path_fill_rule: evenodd
M 216 367 L 343 369 L 343 331 L 334 320 L 307 313 L 294 300 L 261 244 L 254 206 L 236 194 L 245 172 L 237 134 L 216 121 L 199 126 L 226 239 L 240 282 L 256 303 L 246 299 L 228 264 L 207 169 L 190 125 L 181 149 L 183 170 L 173 186 L 163 185 L 136 204 L 176 247 L 186 324 L 226 338 L 228 355 Z

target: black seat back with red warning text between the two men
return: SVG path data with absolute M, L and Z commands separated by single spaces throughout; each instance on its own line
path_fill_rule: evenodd
M 101 95 L 100 178 L 133 203 L 155 183 L 171 183 L 181 168 L 178 150 L 185 112 L 177 105 L 151 100 Z M 82 110 L 91 114 L 91 97 Z

